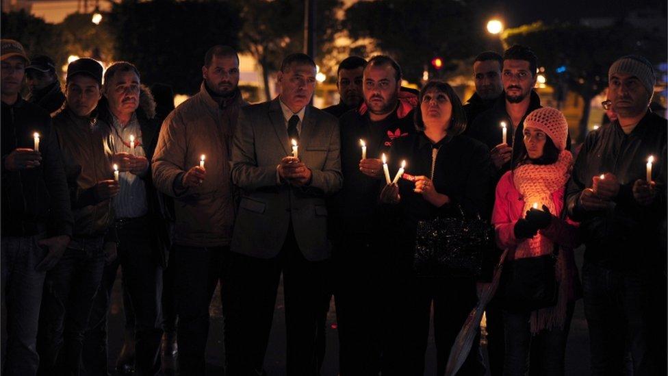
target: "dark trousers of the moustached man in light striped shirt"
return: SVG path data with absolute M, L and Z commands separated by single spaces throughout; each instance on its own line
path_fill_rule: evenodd
M 157 262 L 143 218 L 119 222 L 118 250 L 105 266 L 102 282 L 90 313 L 84 342 L 83 375 L 107 371 L 107 314 L 118 266 L 123 270 L 125 309 L 131 307 L 135 329 L 135 374 L 156 375 L 160 370 L 162 338 L 162 266 Z

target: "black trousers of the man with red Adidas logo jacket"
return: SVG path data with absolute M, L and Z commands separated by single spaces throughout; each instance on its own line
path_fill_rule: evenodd
M 378 375 L 389 303 L 391 258 L 368 238 L 348 234 L 333 254 L 333 281 L 339 334 L 339 373 Z

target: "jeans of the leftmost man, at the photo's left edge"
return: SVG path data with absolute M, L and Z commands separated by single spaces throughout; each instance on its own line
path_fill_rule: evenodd
M 44 272 L 35 271 L 47 251 L 37 245 L 38 237 L 1 238 L 0 268 L 2 303 L 7 308 L 7 344 L 2 375 L 29 376 L 37 373 L 39 356 L 37 324 L 42 303 Z

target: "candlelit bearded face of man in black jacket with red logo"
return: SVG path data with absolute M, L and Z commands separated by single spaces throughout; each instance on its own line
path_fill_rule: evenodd
M 401 86 L 390 64 L 369 64 L 364 70 L 364 101 L 372 114 L 389 114 L 396 108 Z

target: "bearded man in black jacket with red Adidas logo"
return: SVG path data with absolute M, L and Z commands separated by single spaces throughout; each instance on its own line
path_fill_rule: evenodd
M 339 365 L 342 375 L 372 375 L 381 369 L 385 304 L 391 299 L 385 247 L 387 229 L 376 203 L 385 186 L 381 153 L 397 138 L 415 132 L 417 96 L 400 90 L 401 68 L 378 55 L 363 71 L 363 96 L 357 110 L 339 119 L 344 186 L 332 205 L 334 275 Z M 361 158 L 360 140 L 367 147 Z

